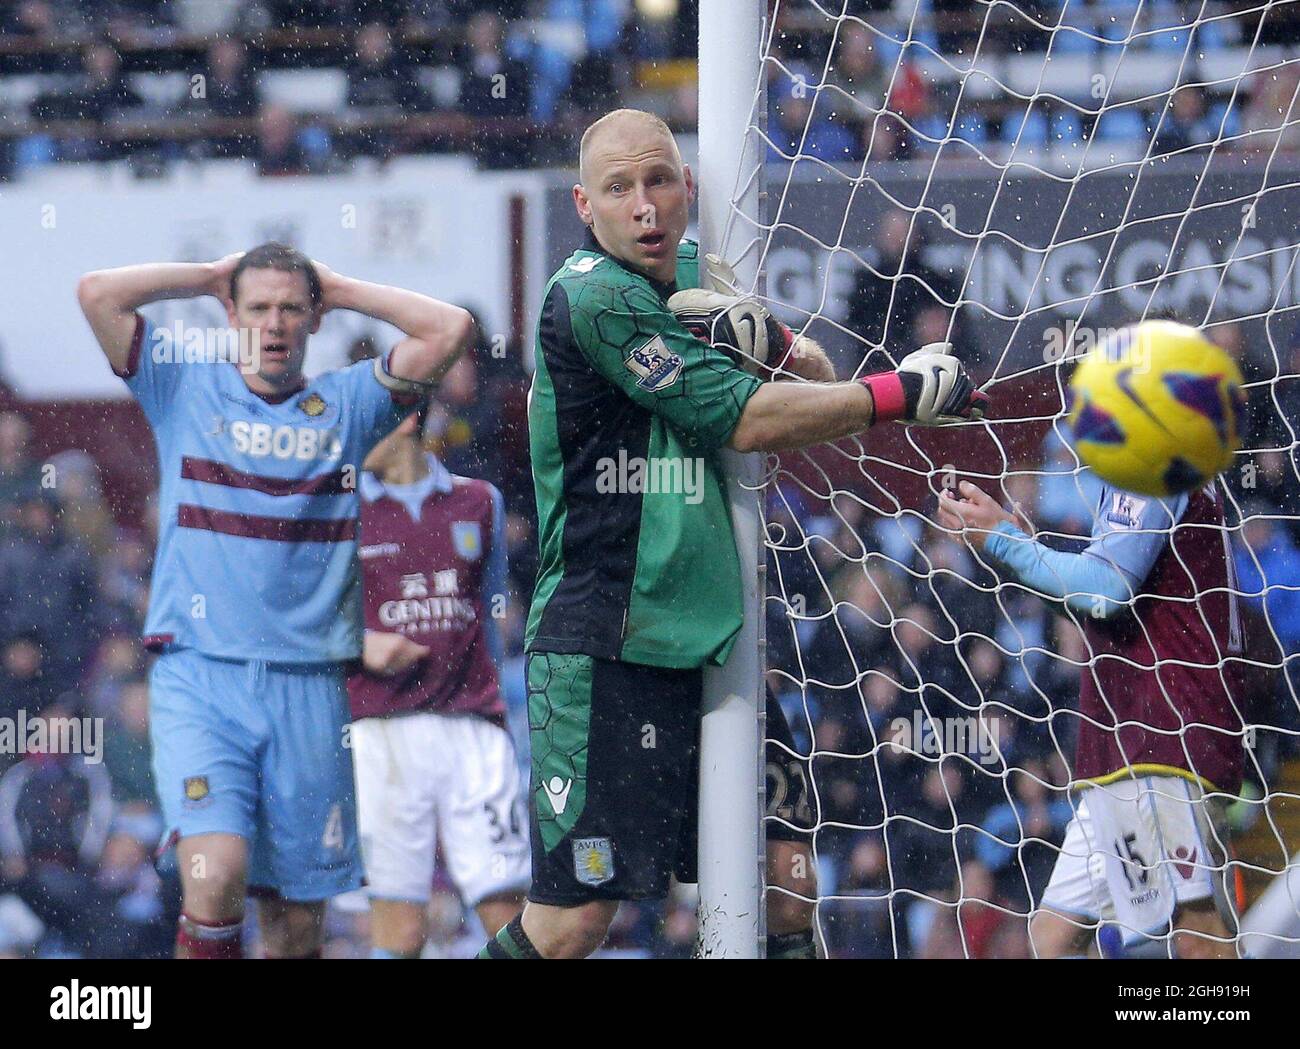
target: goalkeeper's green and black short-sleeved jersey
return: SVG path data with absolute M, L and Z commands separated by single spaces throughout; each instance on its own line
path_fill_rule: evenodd
M 546 286 L 528 433 L 541 563 L 529 651 L 654 667 L 727 659 L 744 619 L 718 452 L 759 380 L 668 311 L 676 285 L 589 234 Z

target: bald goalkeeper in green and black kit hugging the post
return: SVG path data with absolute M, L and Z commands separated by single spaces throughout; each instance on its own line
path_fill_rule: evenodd
M 694 182 L 658 117 L 606 114 L 578 166 L 589 235 L 546 287 L 528 412 L 533 884 L 481 958 L 585 957 L 619 901 L 696 880 L 702 668 L 725 662 L 744 617 L 722 448 L 978 420 L 988 403 L 946 343 L 835 382 L 759 303 L 696 287 L 681 239 Z M 788 744 L 772 702 L 768 725 Z M 811 958 L 807 772 L 781 746 L 767 772 L 767 880 L 785 890 L 770 900 L 767 957 Z

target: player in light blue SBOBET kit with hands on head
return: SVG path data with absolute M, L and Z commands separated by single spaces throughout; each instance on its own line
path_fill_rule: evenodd
M 361 884 L 344 667 L 361 655 L 358 474 L 468 344 L 459 307 L 261 244 L 82 277 L 78 299 L 153 430 L 161 478 L 146 645 L 153 771 L 176 842 L 182 958 L 318 957 L 325 901 Z M 138 311 L 212 295 L 248 360 L 187 360 Z M 303 374 L 332 309 L 403 338 Z

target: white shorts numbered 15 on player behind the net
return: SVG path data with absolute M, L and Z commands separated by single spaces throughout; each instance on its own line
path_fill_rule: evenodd
M 1180 776 L 1087 788 L 1041 906 L 1115 922 L 1132 940 L 1164 931 L 1179 905 L 1213 900 L 1234 928 L 1221 809 Z

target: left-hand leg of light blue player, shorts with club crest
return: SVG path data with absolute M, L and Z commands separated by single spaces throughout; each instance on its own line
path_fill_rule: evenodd
M 150 737 L 181 874 L 178 958 L 239 958 L 260 727 L 243 664 L 169 649 L 150 673 Z

